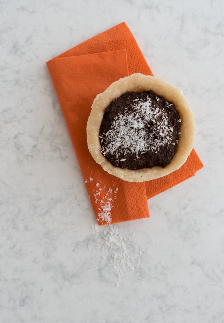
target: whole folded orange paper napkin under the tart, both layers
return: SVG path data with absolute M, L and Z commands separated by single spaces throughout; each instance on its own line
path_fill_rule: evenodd
M 46 64 L 99 225 L 149 217 L 148 198 L 194 176 L 203 167 L 193 150 L 179 170 L 157 180 L 131 183 L 108 174 L 92 158 L 86 126 L 97 94 L 133 73 L 153 76 L 124 22 Z

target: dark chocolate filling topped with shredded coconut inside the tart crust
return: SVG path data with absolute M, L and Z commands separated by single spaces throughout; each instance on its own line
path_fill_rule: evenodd
M 104 112 L 101 152 L 116 167 L 166 167 L 177 151 L 180 115 L 175 104 L 153 91 L 126 92 Z

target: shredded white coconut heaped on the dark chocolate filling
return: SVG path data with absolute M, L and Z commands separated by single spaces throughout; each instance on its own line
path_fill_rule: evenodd
M 166 103 L 166 108 L 171 106 Z M 172 143 L 173 128 L 168 125 L 168 114 L 163 109 L 152 105 L 148 96 L 147 100 L 133 100 L 130 106 L 132 108 L 125 108 L 123 115 L 115 117 L 105 137 L 100 137 L 104 156 L 110 153 L 118 159 L 123 153 L 138 155 L 150 149 L 157 153 L 160 146 Z

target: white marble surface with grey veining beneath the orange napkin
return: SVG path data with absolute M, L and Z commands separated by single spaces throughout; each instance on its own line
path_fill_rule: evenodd
M 0 323 L 224 322 L 223 11 L 219 0 L 1 2 Z M 105 228 L 93 232 L 45 62 L 122 21 L 189 100 L 204 168 L 150 199 L 150 219 L 117 225 L 134 258 L 120 272 L 120 247 L 105 256 Z

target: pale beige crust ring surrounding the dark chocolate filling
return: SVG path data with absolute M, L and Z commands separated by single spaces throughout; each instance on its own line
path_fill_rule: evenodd
M 164 168 L 154 166 L 152 168 L 128 170 L 115 167 L 101 153 L 102 148 L 99 141 L 99 130 L 104 111 L 114 99 L 119 98 L 125 92 L 143 92 L 150 90 L 168 101 L 173 102 L 179 112 L 181 123 L 177 151 L 170 164 Z M 128 182 L 146 182 L 176 171 L 187 160 L 193 149 L 194 140 L 194 115 L 181 89 L 161 78 L 139 73 L 121 78 L 119 81 L 112 83 L 103 93 L 98 94 L 93 101 L 92 110 L 87 122 L 88 149 L 95 161 L 109 174 Z

